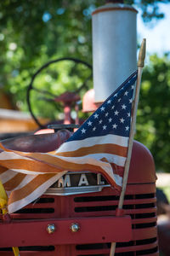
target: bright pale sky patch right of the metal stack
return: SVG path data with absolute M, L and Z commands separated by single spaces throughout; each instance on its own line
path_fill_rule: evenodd
M 161 3 L 159 7 L 165 15 L 161 20 L 145 24 L 140 13 L 137 15 L 139 42 L 146 38 L 147 54 L 163 55 L 164 52 L 170 51 L 170 3 Z

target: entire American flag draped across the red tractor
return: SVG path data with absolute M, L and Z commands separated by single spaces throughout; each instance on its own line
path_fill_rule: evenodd
M 54 154 L 14 151 L 0 143 L 0 179 L 9 213 L 36 200 L 68 171 L 100 172 L 122 188 L 136 80 L 137 71 Z

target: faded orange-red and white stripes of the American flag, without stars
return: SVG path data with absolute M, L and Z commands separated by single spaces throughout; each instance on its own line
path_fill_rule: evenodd
M 55 154 L 47 154 L 14 151 L 0 143 L 0 179 L 9 197 L 8 212 L 36 200 L 68 171 L 100 172 L 121 189 L 127 144 L 128 137 L 109 134 L 66 142 Z

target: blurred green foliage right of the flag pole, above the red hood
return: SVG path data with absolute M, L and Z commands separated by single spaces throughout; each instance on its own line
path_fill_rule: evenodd
M 170 59 L 150 56 L 140 90 L 136 138 L 150 148 L 157 170 L 170 167 Z

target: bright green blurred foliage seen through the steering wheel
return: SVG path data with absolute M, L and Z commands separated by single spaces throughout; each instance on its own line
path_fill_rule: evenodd
M 93 86 L 92 67 L 87 67 L 75 58 L 49 61 L 48 67 L 42 66 L 39 71 L 30 84 L 33 87 L 30 90 L 31 110 L 39 117 L 63 119 L 62 104 L 55 99 L 65 91 L 74 91 L 82 97 Z

